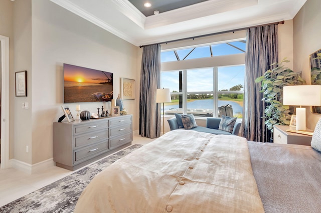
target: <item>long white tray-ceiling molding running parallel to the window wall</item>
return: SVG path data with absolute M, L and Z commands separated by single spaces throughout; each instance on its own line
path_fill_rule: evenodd
M 258 0 L 209 0 L 146 17 L 145 29 L 257 5 Z

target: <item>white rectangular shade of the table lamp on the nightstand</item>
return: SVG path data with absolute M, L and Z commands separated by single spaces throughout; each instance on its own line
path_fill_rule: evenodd
M 284 105 L 321 105 L 321 85 L 294 85 L 283 87 Z

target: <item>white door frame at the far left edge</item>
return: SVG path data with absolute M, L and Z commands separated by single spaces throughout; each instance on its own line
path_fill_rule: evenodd
M 1 42 L 1 168 L 9 168 L 9 37 L 0 35 Z

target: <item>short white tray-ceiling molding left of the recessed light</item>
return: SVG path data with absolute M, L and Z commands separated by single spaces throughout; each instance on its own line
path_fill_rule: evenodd
M 142 29 L 145 28 L 146 16 L 141 13 L 134 5 L 128 0 L 112 0 L 115 3 L 118 11 L 127 16 L 130 20 L 136 23 Z

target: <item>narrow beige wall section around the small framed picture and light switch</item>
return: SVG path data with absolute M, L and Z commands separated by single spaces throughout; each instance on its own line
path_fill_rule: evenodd
M 11 123 L 10 142 L 14 147 L 14 157 L 26 163 L 32 163 L 32 64 L 31 64 L 31 0 L 14 2 L 14 71 L 11 73 Z M 27 70 L 27 97 L 15 96 L 15 72 Z M 22 102 L 29 102 L 30 109 L 23 109 Z M 14 103 L 14 104 L 12 104 Z M 26 152 L 26 146 L 29 152 Z

